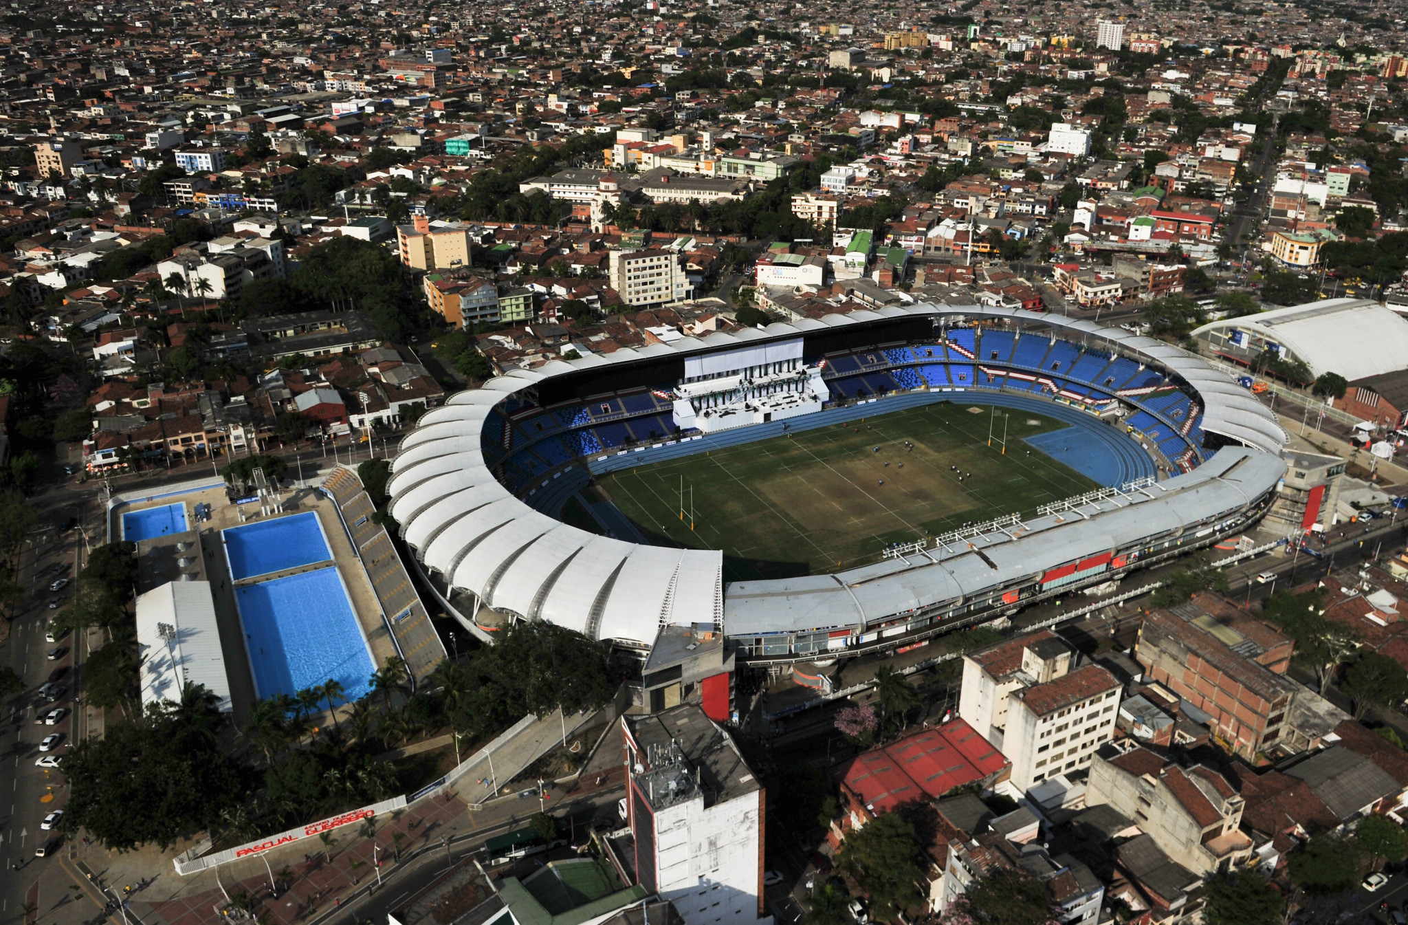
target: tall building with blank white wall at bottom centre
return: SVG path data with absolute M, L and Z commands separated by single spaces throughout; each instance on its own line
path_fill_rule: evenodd
M 636 883 L 684 925 L 755 922 L 765 794 L 738 745 L 696 704 L 621 717 Z

